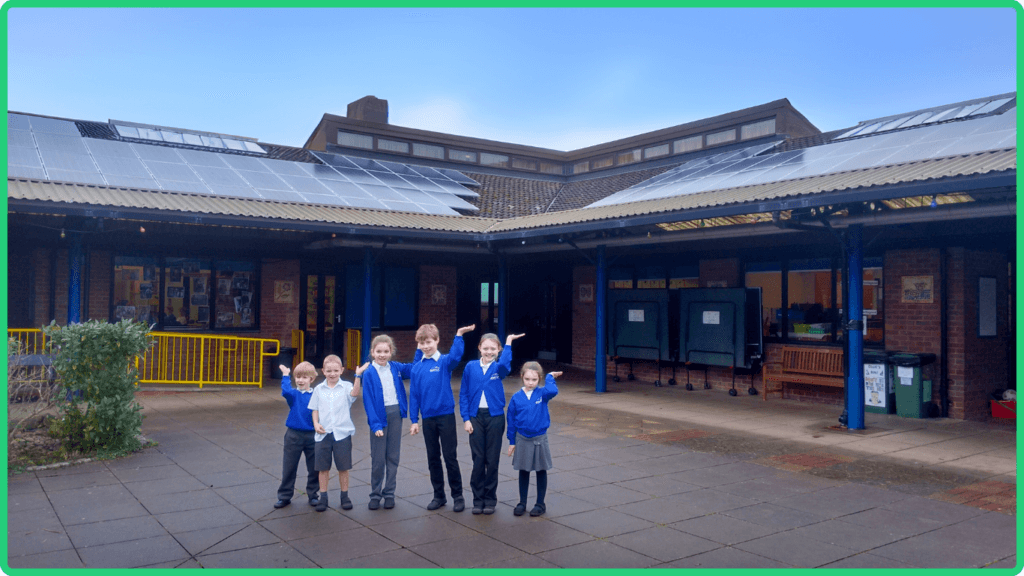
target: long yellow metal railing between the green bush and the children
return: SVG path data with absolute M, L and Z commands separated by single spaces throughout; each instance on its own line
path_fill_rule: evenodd
M 256 384 L 263 386 L 264 359 L 281 342 L 268 338 L 151 332 L 154 345 L 136 359 L 141 383 Z M 267 345 L 272 344 L 272 349 Z

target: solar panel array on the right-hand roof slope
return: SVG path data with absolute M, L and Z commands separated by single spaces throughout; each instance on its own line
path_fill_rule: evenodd
M 669 198 L 1016 147 L 1017 115 L 1015 109 L 1011 109 L 995 116 L 924 125 L 898 132 L 881 132 L 865 138 L 834 140 L 822 146 L 778 154 L 758 156 L 766 149 L 752 147 L 738 152 L 699 158 L 612 194 L 589 207 Z

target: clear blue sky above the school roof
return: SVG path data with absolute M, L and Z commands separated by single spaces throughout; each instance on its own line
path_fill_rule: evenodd
M 777 98 L 821 130 L 1016 90 L 1007 8 L 8 12 L 7 108 L 302 146 L 392 124 L 574 150 Z

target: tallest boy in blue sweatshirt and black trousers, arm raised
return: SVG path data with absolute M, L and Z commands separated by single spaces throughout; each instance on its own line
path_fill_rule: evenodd
M 465 326 L 456 332 L 449 354 L 437 351 L 440 334 L 433 324 L 424 324 L 416 331 L 419 353 L 413 362 L 409 378 L 409 419 L 413 425 L 409 434 L 420 431 L 420 412 L 423 413 L 423 442 L 427 446 L 427 467 L 430 469 L 430 484 L 434 488 L 434 498 L 427 504 L 428 510 L 436 510 L 447 503 L 444 498 L 444 475 L 441 470 L 441 453 L 449 472 L 452 488 L 452 509 L 461 512 L 466 509 L 462 497 L 462 472 L 456 459 L 457 433 L 455 428 L 455 400 L 452 393 L 452 369 L 462 360 L 465 344 L 462 335 L 476 325 Z

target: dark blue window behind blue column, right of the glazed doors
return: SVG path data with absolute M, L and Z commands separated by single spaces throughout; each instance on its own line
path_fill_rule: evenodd
M 362 328 L 364 278 L 361 264 L 345 266 L 346 328 Z M 418 286 L 419 273 L 415 268 L 374 266 L 371 286 L 373 327 L 415 327 Z

